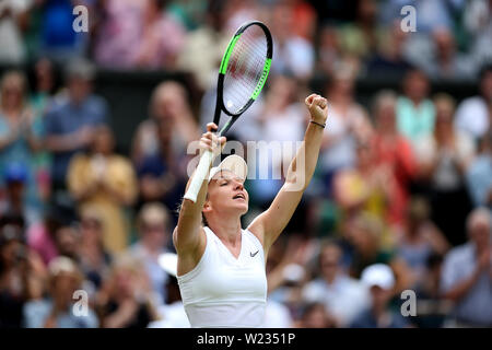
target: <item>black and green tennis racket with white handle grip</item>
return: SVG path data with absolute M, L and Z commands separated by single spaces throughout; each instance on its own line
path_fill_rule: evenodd
M 270 71 L 272 55 L 271 34 L 263 23 L 248 22 L 236 31 L 219 69 L 213 122 L 219 126 L 222 112 L 230 118 L 218 132 L 218 137 L 224 136 L 258 98 Z M 203 152 L 185 199 L 197 201 L 212 161 L 212 152 Z

